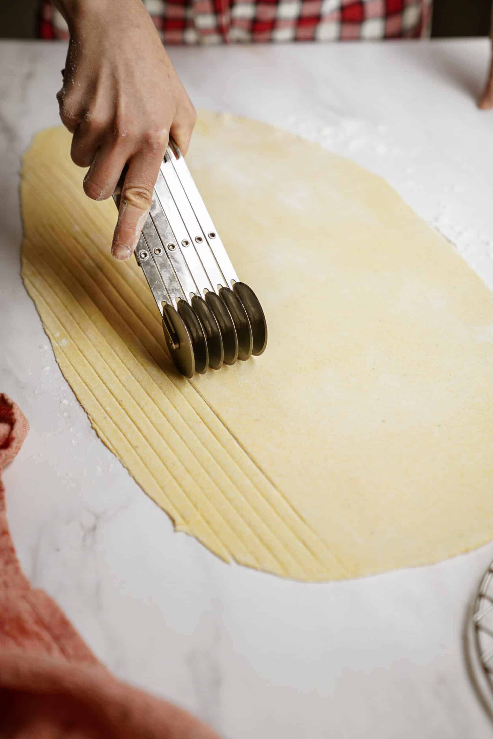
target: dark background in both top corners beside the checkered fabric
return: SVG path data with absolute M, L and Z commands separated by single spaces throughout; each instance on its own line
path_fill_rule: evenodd
M 38 0 L 0 0 L 0 38 L 33 38 Z M 492 0 L 435 0 L 432 35 L 486 36 Z

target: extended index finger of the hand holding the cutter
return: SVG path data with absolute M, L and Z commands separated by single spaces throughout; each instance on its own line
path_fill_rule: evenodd
M 112 255 L 125 260 L 135 250 L 140 231 L 149 215 L 152 191 L 163 156 L 156 151 L 134 154 L 121 190 L 118 221 L 113 236 Z

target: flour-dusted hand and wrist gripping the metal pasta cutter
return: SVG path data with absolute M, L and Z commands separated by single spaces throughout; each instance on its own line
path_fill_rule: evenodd
M 84 191 L 106 200 L 128 166 L 112 254 L 128 259 L 168 144 L 188 149 L 196 114 L 141 0 L 54 0 L 69 25 L 57 98 Z

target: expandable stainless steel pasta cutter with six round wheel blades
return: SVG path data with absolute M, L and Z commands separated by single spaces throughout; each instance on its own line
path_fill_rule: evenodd
M 118 196 L 115 196 L 118 202 Z M 239 282 L 183 155 L 170 140 L 137 248 L 182 375 L 259 355 L 267 324 L 253 290 Z

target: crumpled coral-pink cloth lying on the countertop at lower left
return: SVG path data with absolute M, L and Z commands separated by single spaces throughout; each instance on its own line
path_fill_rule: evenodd
M 1 470 L 29 425 L 0 394 L 0 738 L 219 739 L 182 709 L 120 682 L 21 571 Z

